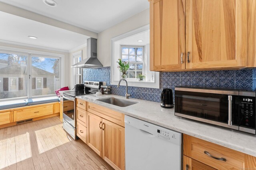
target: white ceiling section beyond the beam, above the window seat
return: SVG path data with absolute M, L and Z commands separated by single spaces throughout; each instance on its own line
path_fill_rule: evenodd
M 5 41 L 68 51 L 85 44 L 86 39 L 89 38 L 86 35 L 1 11 L 0 21 L 0 39 Z M 28 38 L 29 35 L 38 39 Z

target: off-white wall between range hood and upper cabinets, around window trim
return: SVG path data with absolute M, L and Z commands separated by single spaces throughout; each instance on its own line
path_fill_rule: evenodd
M 111 39 L 149 24 L 149 8 L 98 33 L 97 55 L 104 67 L 111 64 Z

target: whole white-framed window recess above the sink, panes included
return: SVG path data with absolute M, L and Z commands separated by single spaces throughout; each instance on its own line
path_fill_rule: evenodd
M 150 36 L 149 25 L 145 25 L 130 32 L 111 39 L 111 75 L 110 84 L 118 85 L 122 73 L 117 61 L 128 61 L 130 68 L 126 80 L 129 86 L 159 88 L 159 72 L 150 71 Z M 142 41 L 138 41 L 142 40 Z M 139 81 L 136 76 L 144 74 L 146 78 Z M 121 82 L 121 85 L 125 85 Z

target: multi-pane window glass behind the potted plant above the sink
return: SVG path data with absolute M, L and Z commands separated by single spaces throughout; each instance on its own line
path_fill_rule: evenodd
M 122 61 L 130 63 L 128 71 L 129 79 L 135 79 L 138 74 L 143 74 L 144 47 L 143 46 L 121 46 Z

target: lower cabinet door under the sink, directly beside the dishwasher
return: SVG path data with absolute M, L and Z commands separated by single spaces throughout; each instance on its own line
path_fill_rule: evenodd
M 124 170 L 124 127 L 105 119 L 102 120 L 102 158 L 115 170 Z

